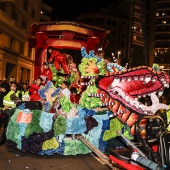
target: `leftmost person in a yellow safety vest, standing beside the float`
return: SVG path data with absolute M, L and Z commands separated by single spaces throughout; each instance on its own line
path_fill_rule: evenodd
M 21 101 L 19 99 L 20 92 L 17 91 L 17 84 L 12 82 L 10 85 L 10 91 L 3 99 L 4 109 L 11 109 L 16 107 L 17 101 Z

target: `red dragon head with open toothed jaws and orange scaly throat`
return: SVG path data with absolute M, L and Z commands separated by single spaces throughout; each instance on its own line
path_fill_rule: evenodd
M 82 56 L 97 58 L 91 51 L 89 55 L 85 53 L 84 49 Z M 94 73 L 97 65 L 96 62 Z M 102 106 L 107 106 L 113 113 L 112 116 L 131 127 L 132 135 L 135 134 L 134 124 L 141 114 L 154 115 L 159 109 L 169 109 L 167 105 L 160 103 L 157 97 L 163 94 L 165 88 L 169 88 L 169 76 L 165 72 L 147 66 L 127 69 L 117 62 L 107 63 L 107 70 L 105 75 L 100 75 L 99 72 L 99 76 L 95 77 L 98 91 L 89 96 L 99 97 L 103 102 Z M 150 96 L 151 106 L 140 102 L 140 98 L 146 96 Z

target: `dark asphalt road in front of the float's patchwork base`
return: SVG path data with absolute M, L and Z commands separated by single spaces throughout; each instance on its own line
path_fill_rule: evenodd
M 36 156 L 0 146 L 0 170 L 109 170 L 91 154 Z

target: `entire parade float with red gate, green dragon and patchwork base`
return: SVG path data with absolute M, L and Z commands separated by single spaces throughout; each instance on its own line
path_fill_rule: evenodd
M 145 127 L 147 116 L 158 115 L 160 109 L 169 110 L 158 98 L 169 87 L 165 72 L 148 66 L 127 69 L 114 58 L 110 62 L 99 58 L 98 47 L 104 49 L 108 42 L 106 30 L 98 27 L 63 21 L 35 23 L 30 30 L 35 35 L 30 40 L 35 48 L 35 79 L 42 73 L 43 62 L 49 59 L 49 47 L 64 56 L 67 65 L 61 62 L 57 68 L 54 62 L 50 63 L 53 79 L 38 92 L 43 99 L 41 110 L 26 108 L 24 102 L 16 108 L 6 132 L 9 147 L 36 155 L 77 155 L 96 150 L 109 154 L 113 148 L 124 147 L 117 139 L 118 130 L 130 140 L 136 133 L 144 141 L 149 138 L 146 129 L 137 131 L 135 126 L 140 120 L 138 126 L 143 122 Z M 61 49 L 78 50 L 80 64 L 76 65 L 73 57 Z M 79 104 L 66 96 L 58 98 L 64 80 L 81 93 Z M 140 100 L 146 96 L 150 96 L 150 106 Z M 53 113 L 56 100 L 61 109 Z M 142 119 L 143 116 L 146 117 Z M 166 129 L 166 125 L 161 126 Z

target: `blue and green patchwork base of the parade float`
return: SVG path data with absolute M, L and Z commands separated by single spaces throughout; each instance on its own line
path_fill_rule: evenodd
M 76 138 L 81 135 L 105 153 L 116 136 L 113 124 L 122 127 L 117 119 L 110 124 L 109 115 L 108 111 L 99 114 L 79 108 L 77 117 L 66 119 L 40 110 L 16 109 L 7 127 L 7 143 L 11 148 L 36 155 L 88 154 L 92 150 Z M 113 147 L 121 145 L 113 143 Z

